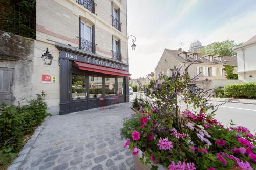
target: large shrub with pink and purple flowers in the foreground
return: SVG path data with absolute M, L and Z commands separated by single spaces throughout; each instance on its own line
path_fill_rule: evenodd
M 160 76 L 148 87 L 140 84 L 145 99 L 139 113 L 124 119 L 124 147 L 140 149 L 142 163 L 166 169 L 256 169 L 256 138 L 241 126 L 224 127 L 214 119 L 216 106 L 207 91 L 190 84 L 186 68 L 181 74 Z M 146 102 L 145 102 L 146 101 Z M 179 104 L 185 104 L 182 111 Z

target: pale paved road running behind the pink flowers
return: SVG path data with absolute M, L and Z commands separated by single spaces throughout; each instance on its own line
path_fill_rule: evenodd
M 134 93 L 130 96 L 130 101 L 136 98 L 138 93 Z M 222 102 L 211 102 L 214 105 Z M 182 105 L 185 108 L 185 105 Z M 230 120 L 233 123 L 247 127 L 251 132 L 255 133 L 256 130 L 256 105 L 252 104 L 240 104 L 240 103 L 227 103 L 219 106 L 216 111 L 216 117 L 219 122 L 227 126 Z

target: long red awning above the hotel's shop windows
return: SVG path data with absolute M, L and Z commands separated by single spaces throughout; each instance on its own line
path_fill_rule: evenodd
M 117 76 L 131 76 L 131 74 L 129 74 L 129 72 L 122 71 L 119 69 L 107 68 L 107 67 L 102 67 L 102 66 L 87 64 L 87 63 L 81 63 L 78 61 L 74 61 L 74 62 L 77 64 L 77 67 L 80 70 L 93 71 L 93 72 L 99 72 L 99 73 L 103 73 L 103 74 L 117 75 Z

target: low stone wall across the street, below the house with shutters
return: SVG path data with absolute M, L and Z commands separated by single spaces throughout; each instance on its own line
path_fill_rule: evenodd
M 224 87 L 227 84 L 234 84 L 234 83 L 243 83 L 243 80 L 208 80 L 208 81 L 195 81 L 196 86 L 199 88 L 203 88 L 206 90 L 214 90 L 217 87 Z

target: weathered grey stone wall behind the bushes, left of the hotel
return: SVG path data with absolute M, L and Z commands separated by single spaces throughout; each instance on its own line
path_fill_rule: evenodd
M 22 99 L 32 99 L 34 40 L 0 31 L 0 68 L 13 71 L 11 101 L 17 104 Z M 5 80 L 5 76 L 0 81 Z M 2 101 L 0 101 L 2 102 Z

